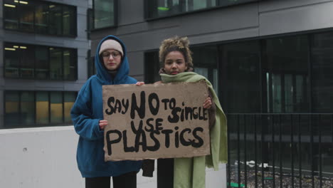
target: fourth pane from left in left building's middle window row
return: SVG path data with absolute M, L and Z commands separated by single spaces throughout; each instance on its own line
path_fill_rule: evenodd
M 50 77 L 51 80 L 63 79 L 63 51 L 60 48 L 49 48 L 50 50 Z

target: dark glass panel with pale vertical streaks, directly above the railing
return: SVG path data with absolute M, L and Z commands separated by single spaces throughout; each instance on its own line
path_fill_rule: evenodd
M 307 36 L 266 40 L 263 77 L 268 113 L 309 112 Z

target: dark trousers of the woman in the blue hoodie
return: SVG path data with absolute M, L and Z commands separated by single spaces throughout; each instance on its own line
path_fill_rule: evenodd
M 113 188 L 137 188 L 137 172 L 112 177 Z M 86 177 L 85 188 L 110 188 L 110 177 Z

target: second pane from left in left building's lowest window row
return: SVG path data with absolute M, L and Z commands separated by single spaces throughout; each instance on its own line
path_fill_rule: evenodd
M 33 91 L 21 92 L 22 125 L 33 125 L 35 122 L 35 95 Z

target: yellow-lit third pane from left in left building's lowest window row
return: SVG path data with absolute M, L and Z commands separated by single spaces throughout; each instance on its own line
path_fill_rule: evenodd
M 47 124 L 49 122 L 49 101 L 47 91 L 36 92 L 36 123 Z

